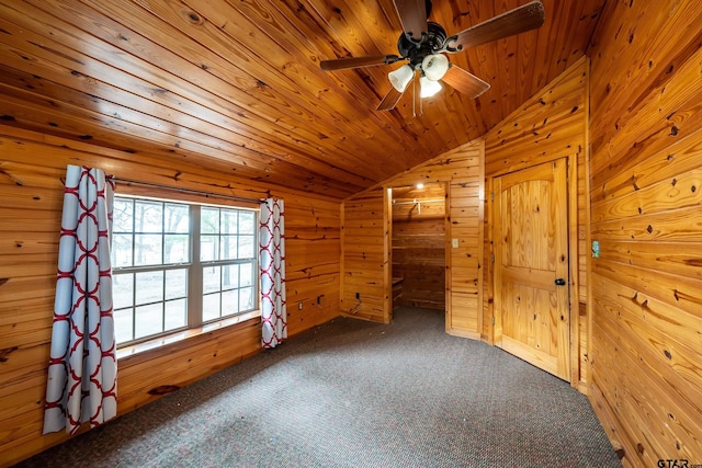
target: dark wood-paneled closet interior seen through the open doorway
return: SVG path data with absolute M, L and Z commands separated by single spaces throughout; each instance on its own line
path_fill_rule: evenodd
M 446 187 L 393 189 L 392 195 L 393 281 L 403 278 L 399 304 L 445 310 Z

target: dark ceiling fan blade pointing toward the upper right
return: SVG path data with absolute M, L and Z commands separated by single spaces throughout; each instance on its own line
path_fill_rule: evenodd
M 456 34 L 450 47 L 466 48 L 534 30 L 544 24 L 544 5 L 531 1 Z

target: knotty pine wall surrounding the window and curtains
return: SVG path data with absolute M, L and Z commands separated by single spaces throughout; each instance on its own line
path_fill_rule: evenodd
M 63 432 L 42 436 L 42 424 L 64 194 L 61 179 L 69 163 L 99 167 L 117 178 L 210 193 L 252 198 L 269 193 L 282 196 L 286 214 L 290 334 L 339 315 L 338 201 L 253 184 L 176 159 L 129 155 L 0 126 L 0 466 L 67 438 Z M 118 185 L 117 192 L 121 189 L 128 190 Z M 188 385 L 258 352 L 259 321 L 213 329 L 120 358 L 120 414 L 157 399 L 149 390 Z

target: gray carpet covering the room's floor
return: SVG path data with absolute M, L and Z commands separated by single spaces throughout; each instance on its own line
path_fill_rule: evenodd
M 587 398 L 443 313 L 338 318 L 20 466 L 620 467 Z

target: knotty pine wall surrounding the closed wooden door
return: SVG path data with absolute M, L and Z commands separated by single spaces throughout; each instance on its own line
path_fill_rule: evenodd
M 571 313 L 571 384 L 587 384 L 587 105 L 588 60 L 581 58 L 485 136 L 487 215 L 483 333 L 492 336 L 491 183 L 492 178 L 530 165 L 568 158 Z M 497 195 L 496 195 L 497 196 Z M 577 318 L 577 319 L 576 319 Z

